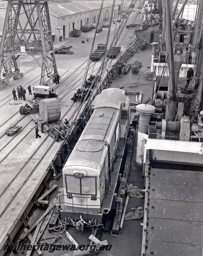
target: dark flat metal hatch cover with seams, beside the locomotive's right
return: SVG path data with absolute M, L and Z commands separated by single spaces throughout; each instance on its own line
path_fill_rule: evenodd
M 150 177 L 146 255 L 202 255 L 203 173 L 151 169 Z

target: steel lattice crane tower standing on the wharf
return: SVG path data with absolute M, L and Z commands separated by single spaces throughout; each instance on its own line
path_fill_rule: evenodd
M 6 17 L 0 44 L 0 89 L 23 74 L 20 72 L 21 55 L 30 55 L 42 71 L 40 85 L 48 85 L 57 65 L 53 51 L 48 1 L 7 0 Z M 35 56 L 42 56 L 42 62 Z M 40 58 L 41 60 L 41 58 Z

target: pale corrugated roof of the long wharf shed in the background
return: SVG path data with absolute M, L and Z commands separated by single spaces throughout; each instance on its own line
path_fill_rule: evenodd
M 127 3 L 124 2 L 124 3 Z M 110 7 L 113 0 L 106 0 L 103 3 L 103 8 Z M 116 0 L 115 5 L 121 4 L 121 1 Z M 69 2 L 69 3 L 54 3 L 49 4 L 49 12 L 58 17 L 88 12 L 91 10 L 100 9 L 101 1 L 83 1 L 83 2 Z

